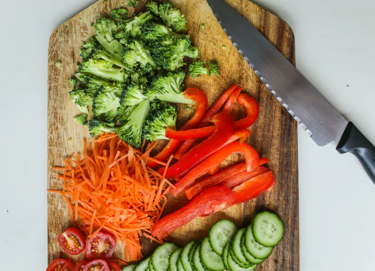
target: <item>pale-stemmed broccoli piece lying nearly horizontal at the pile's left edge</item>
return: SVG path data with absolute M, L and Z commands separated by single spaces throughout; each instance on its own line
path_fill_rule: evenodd
M 88 59 L 79 65 L 78 71 L 88 72 L 104 79 L 120 82 L 125 82 L 128 77 L 123 68 L 114 68 L 112 63 L 100 59 Z

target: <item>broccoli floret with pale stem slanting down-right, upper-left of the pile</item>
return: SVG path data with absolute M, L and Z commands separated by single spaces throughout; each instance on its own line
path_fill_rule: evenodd
M 100 18 L 92 23 L 91 26 L 95 29 L 98 36 L 95 39 L 106 48 L 110 53 L 121 55 L 124 46 L 117 40 L 113 39 L 112 32 L 117 29 L 114 21 L 106 18 Z

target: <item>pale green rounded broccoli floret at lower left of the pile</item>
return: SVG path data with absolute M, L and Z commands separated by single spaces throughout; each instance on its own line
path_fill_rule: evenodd
M 99 117 L 105 114 L 106 121 L 114 120 L 117 109 L 120 107 L 120 98 L 116 96 L 115 90 L 111 87 L 104 86 L 99 89 L 92 102 L 92 112 Z

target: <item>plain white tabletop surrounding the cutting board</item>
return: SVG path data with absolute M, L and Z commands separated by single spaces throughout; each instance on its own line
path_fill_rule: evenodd
M 2 270 L 46 268 L 48 39 L 93 2 L 1 1 Z M 375 143 L 375 2 L 255 2 L 290 24 L 297 68 Z M 334 148 L 298 129 L 301 271 L 374 271 L 375 185 L 353 155 Z

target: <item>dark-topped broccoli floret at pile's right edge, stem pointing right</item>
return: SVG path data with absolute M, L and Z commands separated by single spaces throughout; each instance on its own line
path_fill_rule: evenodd
M 176 70 L 183 66 L 183 58 L 198 58 L 198 48 L 190 45 L 189 39 L 163 37 L 152 43 L 151 53 L 154 62 L 167 70 Z

